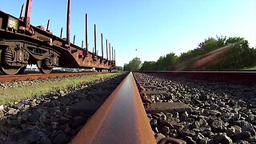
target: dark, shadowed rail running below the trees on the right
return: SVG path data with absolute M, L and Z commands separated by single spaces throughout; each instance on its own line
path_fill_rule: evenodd
M 147 74 L 160 74 L 181 78 L 192 78 L 210 82 L 231 82 L 256 84 L 256 71 L 138 71 Z

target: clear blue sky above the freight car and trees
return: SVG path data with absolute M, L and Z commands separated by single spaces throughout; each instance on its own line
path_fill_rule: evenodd
M 0 10 L 16 17 L 26 0 L 0 0 Z M 66 0 L 34 0 L 31 23 L 59 35 L 66 31 Z M 205 38 L 218 36 L 246 38 L 256 47 L 255 0 L 73 0 L 71 5 L 71 41 L 81 46 L 85 14 L 89 14 L 90 51 L 94 45 L 94 23 L 116 50 L 118 66 L 132 58 L 156 61 L 174 52 L 181 54 L 197 47 Z M 66 32 L 64 33 L 64 37 Z M 105 46 L 105 45 L 104 45 Z M 101 54 L 101 50 L 99 50 Z M 105 54 L 106 55 L 106 54 Z

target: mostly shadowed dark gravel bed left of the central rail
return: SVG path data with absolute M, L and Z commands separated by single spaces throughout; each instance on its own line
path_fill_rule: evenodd
M 68 143 L 127 74 L 16 102 L 0 110 L 0 143 Z

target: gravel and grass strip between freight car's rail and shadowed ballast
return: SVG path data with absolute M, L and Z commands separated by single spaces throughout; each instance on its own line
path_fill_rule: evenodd
M 107 78 L 110 74 L 93 74 L 66 78 L 48 78 L 48 79 L 37 79 L 27 81 L 14 81 L 14 82 L 2 82 L 0 83 L 0 105 L 7 102 L 18 102 L 55 92 L 58 90 L 65 90 L 72 86 L 78 86 L 83 82 L 94 81 L 98 78 Z

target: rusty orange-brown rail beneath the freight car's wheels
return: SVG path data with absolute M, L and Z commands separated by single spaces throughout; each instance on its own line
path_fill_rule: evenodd
M 90 74 L 108 74 L 108 72 L 0 75 L 0 82 L 25 81 L 25 80 L 34 80 L 39 78 L 42 78 L 42 79 L 62 78 L 62 77 L 72 77 L 72 76 L 90 75 Z

